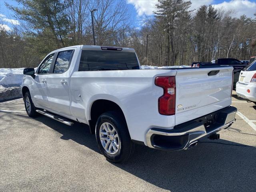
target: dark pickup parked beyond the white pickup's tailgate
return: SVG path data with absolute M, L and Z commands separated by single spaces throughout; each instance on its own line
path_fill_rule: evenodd
M 233 79 L 233 89 L 236 89 L 236 82 L 238 82 L 240 71 L 247 66 L 247 64 L 244 64 L 240 60 L 234 59 L 234 58 L 219 58 L 214 60 L 214 62 L 202 62 L 199 64 L 194 64 L 194 67 L 209 67 L 209 66 L 222 66 L 222 65 L 228 65 L 232 66 L 234 68 L 234 79 Z

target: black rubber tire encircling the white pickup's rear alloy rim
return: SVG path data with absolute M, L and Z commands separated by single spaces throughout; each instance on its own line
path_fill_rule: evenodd
M 119 149 L 116 154 L 109 154 L 106 152 L 104 147 L 102 146 L 100 140 L 100 127 L 103 123 L 110 123 L 116 130 L 118 137 L 120 139 Z M 120 116 L 115 111 L 105 112 L 97 120 L 96 129 L 95 129 L 95 136 L 98 147 L 101 153 L 106 157 L 106 159 L 110 162 L 120 163 L 128 160 L 132 153 L 134 152 L 135 144 L 132 142 L 130 138 L 130 134 L 126 125 L 126 122 L 122 116 Z M 114 141 L 113 141 L 114 142 Z

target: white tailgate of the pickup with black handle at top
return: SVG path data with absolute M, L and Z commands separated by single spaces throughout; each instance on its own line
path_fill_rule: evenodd
M 232 70 L 232 67 L 177 70 L 175 124 L 230 106 Z

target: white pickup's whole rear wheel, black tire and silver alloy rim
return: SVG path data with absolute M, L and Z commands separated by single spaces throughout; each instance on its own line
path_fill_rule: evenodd
M 134 151 L 126 122 L 117 112 L 110 111 L 100 115 L 95 136 L 100 151 L 111 162 L 124 162 Z

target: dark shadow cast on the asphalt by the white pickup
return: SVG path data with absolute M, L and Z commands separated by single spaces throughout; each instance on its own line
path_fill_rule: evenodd
M 88 126 L 66 126 L 50 118 L 35 120 L 95 152 L 95 136 Z M 136 146 L 128 162 L 112 164 L 155 186 L 178 191 L 254 191 L 256 188 L 256 148 L 227 140 L 202 140 L 190 150 L 166 152 Z M 132 183 L 132 181 L 131 181 Z

